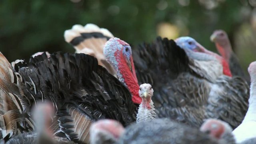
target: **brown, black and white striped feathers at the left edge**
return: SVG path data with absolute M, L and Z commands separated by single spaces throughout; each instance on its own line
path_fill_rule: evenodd
M 20 74 L 14 72 L 8 60 L 0 53 L 0 131 L 8 139 L 23 131 L 33 129 L 28 120 L 29 108 L 24 99 L 24 85 Z M 25 123 L 29 122 L 29 125 Z

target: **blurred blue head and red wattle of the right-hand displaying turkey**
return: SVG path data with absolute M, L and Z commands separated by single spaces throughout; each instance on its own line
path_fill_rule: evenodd
M 228 66 L 228 62 L 226 60 L 224 60 L 218 54 L 216 54 L 214 52 L 211 52 L 211 51 L 207 50 L 206 48 L 204 48 L 201 44 L 196 42 L 195 39 L 193 39 L 191 37 L 188 37 L 188 36 L 183 36 L 183 37 L 177 38 L 175 40 L 175 42 L 181 48 L 190 49 L 190 50 L 192 50 L 194 52 L 202 52 L 202 53 L 206 53 L 206 54 L 209 54 L 211 56 L 214 56 L 222 64 L 222 66 L 223 66 L 223 74 L 225 74 L 226 76 L 232 76 L 232 74 L 230 72 L 230 68 Z

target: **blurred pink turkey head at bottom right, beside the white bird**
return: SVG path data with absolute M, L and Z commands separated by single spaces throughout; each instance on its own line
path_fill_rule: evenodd
M 200 127 L 200 131 L 210 134 L 223 144 L 236 144 L 232 130 L 228 123 L 217 119 L 207 119 Z

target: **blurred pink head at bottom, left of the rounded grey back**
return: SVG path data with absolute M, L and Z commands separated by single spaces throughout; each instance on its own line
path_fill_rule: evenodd
M 99 120 L 90 127 L 91 144 L 114 144 L 124 132 L 124 127 L 116 120 Z

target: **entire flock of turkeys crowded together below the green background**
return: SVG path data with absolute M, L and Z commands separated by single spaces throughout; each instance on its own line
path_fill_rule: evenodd
M 132 48 L 95 24 L 64 32 L 75 54 L 0 53 L 0 144 L 256 144 L 256 62 L 243 72 L 191 37 Z

